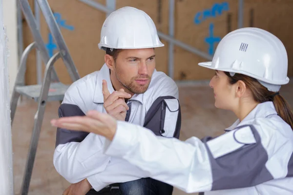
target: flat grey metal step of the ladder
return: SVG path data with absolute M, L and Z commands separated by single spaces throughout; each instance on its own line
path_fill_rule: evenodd
M 62 101 L 66 90 L 70 85 L 64 85 L 61 82 L 54 82 L 50 84 L 48 92 L 48 101 Z M 17 86 L 16 91 L 21 95 L 39 101 L 42 85 L 25 85 Z

